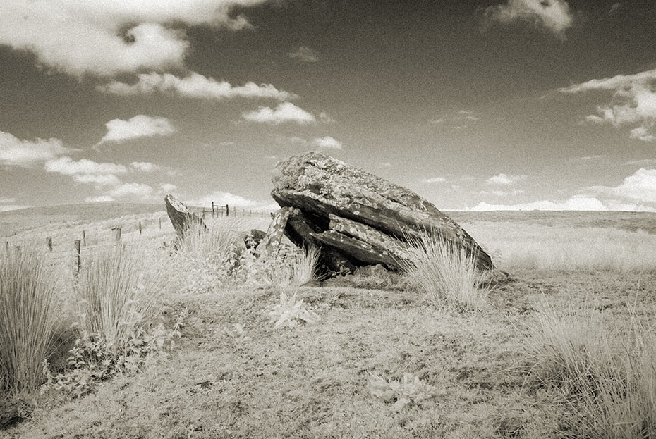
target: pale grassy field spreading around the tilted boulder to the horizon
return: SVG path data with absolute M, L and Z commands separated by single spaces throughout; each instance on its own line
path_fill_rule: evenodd
M 40 242 L 39 234 L 57 232 L 68 242 L 83 227 L 109 240 L 112 225 L 145 223 L 159 215 L 109 210 L 114 217 L 83 223 L 66 218 L 49 223 L 46 213 L 35 211 L 30 215 L 42 223 L 26 223 L 9 239 L 11 245 L 27 245 L 34 237 Z M 427 299 L 411 279 L 382 274 L 298 286 L 245 273 L 238 282 L 226 283 L 229 272 L 224 268 L 199 262 L 193 254 L 171 256 L 170 247 L 162 246 L 174 237 L 169 223 L 161 230 L 159 225 L 147 228 L 142 235 L 131 230 L 126 242 L 147 249 L 150 265 L 166 279 L 158 312 L 165 328 L 178 321 L 175 337 L 155 338 L 164 340 L 166 349 L 155 350 L 138 368 L 123 367 L 90 390 L 68 383 L 59 390 L 12 395 L 14 405 L 30 416 L 0 436 L 656 434 L 656 419 L 650 415 L 656 409 L 656 373 L 646 365 L 656 352 L 651 326 L 656 215 L 449 216 L 511 273 L 508 280 L 490 285 L 486 306 L 476 311 Z M 6 221 L 3 214 L 0 221 Z M 265 230 L 267 219 L 223 218 L 210 227 Z M 61 259 L 54 266 L 63 273 L 61 285 L 72 276 L 71 255 L 65 256 L 49 256 Z M 275 272 L 280 267 L 265 268 Z M 272 310 L 282 303 L 281 293 L 295 295 L 294 303 L 310 313 L 306 323 L 297 319 L 302 324 L 275 328 L 281 317 L 272 317 Z M 73 292 L 60 286 L 56 294 L 61 299 L 56 323 L 60 344 L 50 359 L 63 365 L 73 342 L 66 338 L 68 324 L 79 313 L 71 304 Z M 142 345 L 131 346 L 145 352 Z

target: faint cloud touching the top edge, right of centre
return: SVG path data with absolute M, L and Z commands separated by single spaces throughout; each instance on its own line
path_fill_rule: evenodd
M 564 0 L 508 0 L 505 4 L 485 9 L 484 23 L 507 25 L 530 23 L 564 39 L 565 31 L 573 25 L 574 17 Z

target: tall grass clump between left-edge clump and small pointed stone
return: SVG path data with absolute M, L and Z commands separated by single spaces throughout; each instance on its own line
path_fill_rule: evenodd
M 111 354 L 125 350 L 137 328 L 152 326 L 166 273 L 138 247 L 102 247 L 75 282 L 81 328 L 102 338 Z

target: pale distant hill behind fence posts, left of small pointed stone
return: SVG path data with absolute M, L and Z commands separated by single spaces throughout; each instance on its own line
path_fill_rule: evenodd
M 53 223 L 67 225 L 95 223 L 124 215 L 146 215 L 159 211 L 166 211 L 163 202 L 162 204 L 100 202 L 28 207 L 0 212 L 0 237 Z

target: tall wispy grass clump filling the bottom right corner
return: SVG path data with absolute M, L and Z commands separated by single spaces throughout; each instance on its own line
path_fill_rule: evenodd
M 566 435 L 656 437 L 656 330 L 635 313 L 628 331 L 613 334 L 598 311 L 542 306 L 525 346 L 533 373 L 576 413 L 562 421 Z

